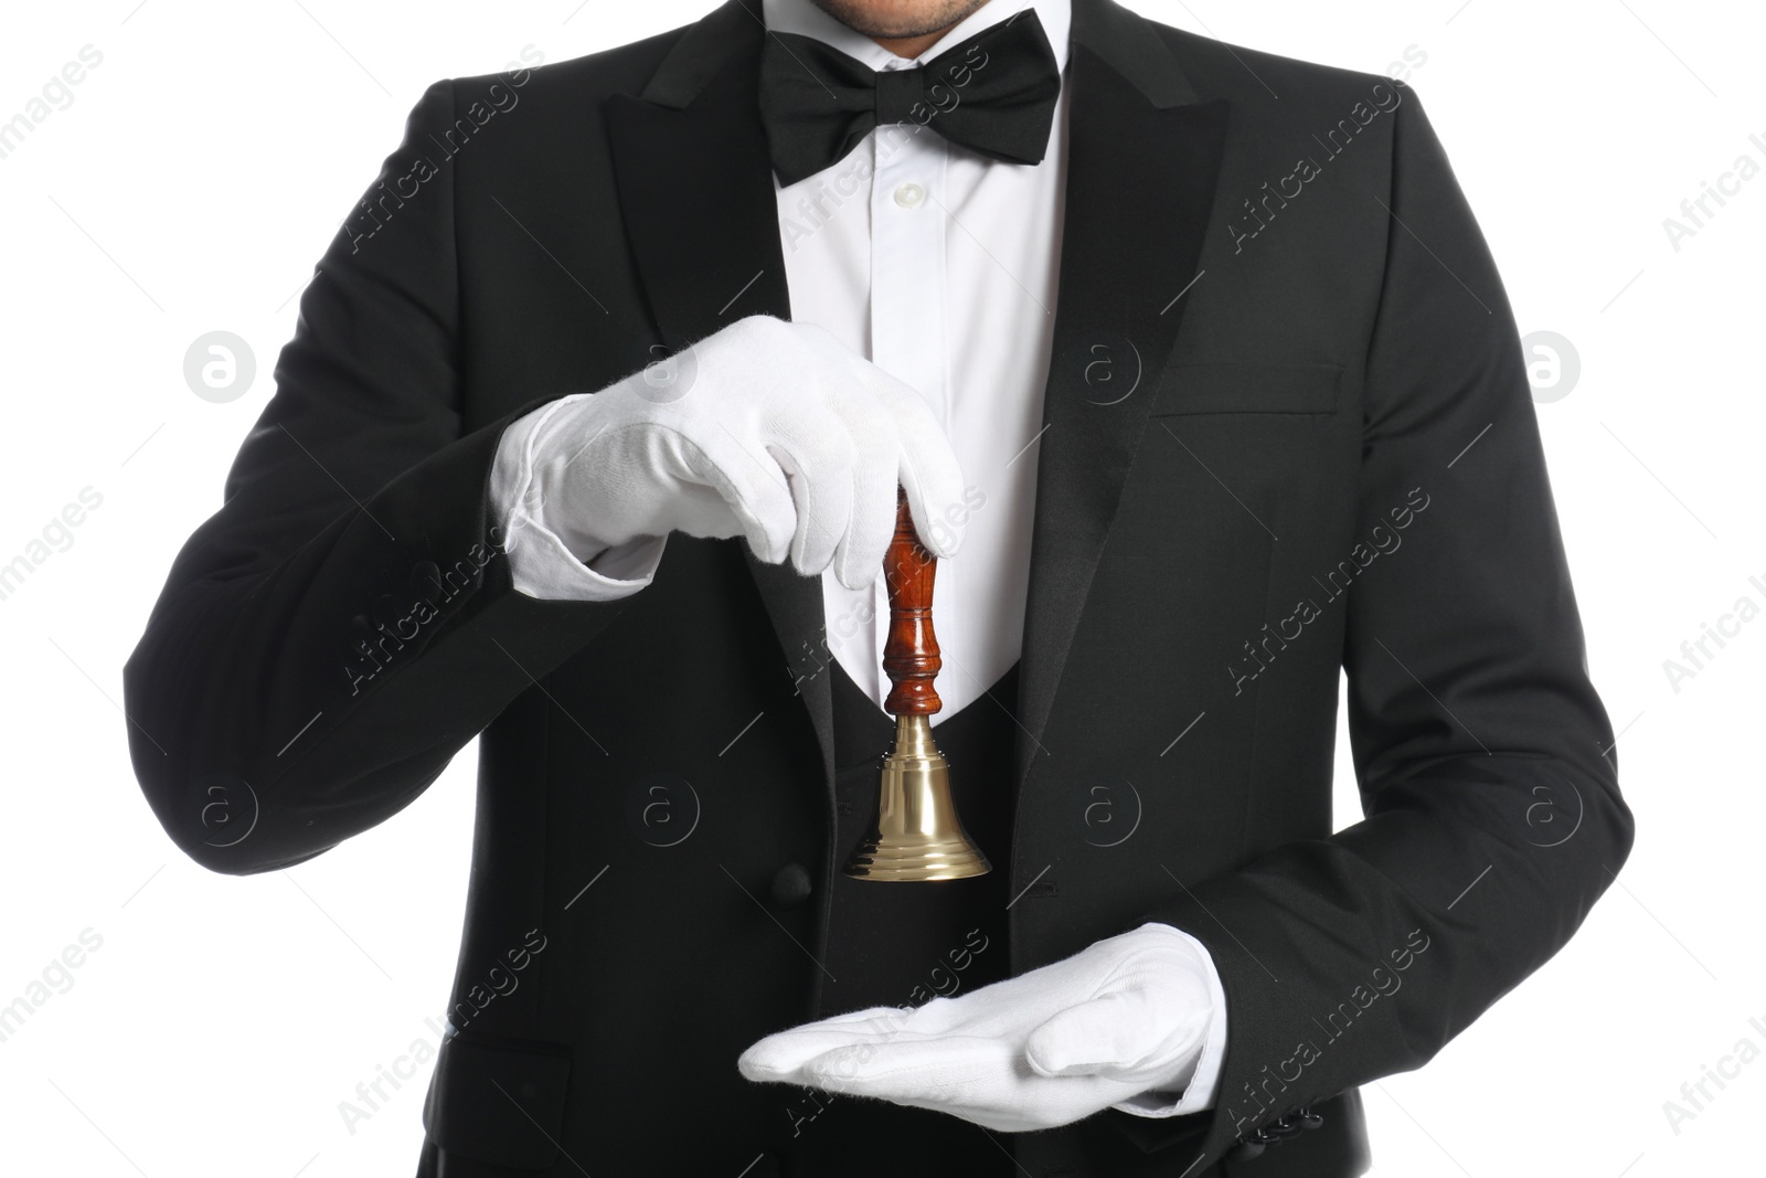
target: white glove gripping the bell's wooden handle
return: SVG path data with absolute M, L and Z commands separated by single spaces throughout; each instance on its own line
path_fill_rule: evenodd
M 871 585 L 897 482 L 950 556 L 959 537 L 940 525 L 962 473 L 925 399 L 826 330 L 756 314 L 514 422 L 491 498 L 517 590 L 609 600 L 650 583 L 669 532 L 743 535 L 768 563 Z

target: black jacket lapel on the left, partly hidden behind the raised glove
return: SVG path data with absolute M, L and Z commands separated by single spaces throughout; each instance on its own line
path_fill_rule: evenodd
M 763 28 L 731 0 L 682 34 L 639 97 L 606 104 L 620 212 L 669 351 L 749 314 L 791 318 L 758 79 Z M 834 781 L 821 581 L 749 567 Z

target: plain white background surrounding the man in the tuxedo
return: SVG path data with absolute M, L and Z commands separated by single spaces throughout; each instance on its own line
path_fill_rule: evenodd
M 120 668 L 177 546 L 219 505 L 313 261 L 422 88 L 505 69 L 528 46 L 556 62 L 622 44 L 708 4 L 0 9 L 0 122 L 83 46 L 102 53 L 72 102 L 0 159 L 0 563 L 81 489 L 102 496 L 0 600 L 0 1005 L 83 931 L 102 938 L 65 978 L 51 971 L 49 1000 L 0 1042 L 0 1171 L 415 1167 L 427 1069 L 353 1132 L 339 1102 L 415 1040 L 434 1044 L 426 1019 L 447 1001 L 459 940 L 473 758 L 313 864 L 208 874 L 132 782 Z M 1766 166 L 1766 18 L 1685 0 L 1132 7 L 1370 72 L 1408 48 L 1425 55 L 1409 79 L 1521 330 L 1558 332 L 1581 355 L 1581 381 L 1538 415 L 1589 666 L 1623 729 L 1637 850 L 1556 961 L 1425 1070 L 1367 1088 L 1374 1173 L 1759 1173 L 1766 1061 L 1709 1086 L 1715 1100 L 1678 1132 L 1664 1102 L 1740 1038 L 1766 1049 L 1766 618 L 1678 691 L 1664 661 L 1738 597 L 1766 606 L 1748 583 L 1766 586 L 1766 177 L 1708 205 L 1679 249 L 1664 219 L 1738 155 Z M 256 383 L 230 404 L 184 380 L 185 350 L 212 330 L 256 353 Z M 1339 802 L 1339 823 L 1355 821 L 1346 759 Z

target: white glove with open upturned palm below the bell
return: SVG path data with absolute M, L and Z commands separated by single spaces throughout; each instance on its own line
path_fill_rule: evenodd
M 1208 950 L 1171 925 L 1144 924 L 959 998 L 768 1035 L 738 1067 L 754 1081 L 1028 1132 L 1107 1107 L 1141 1116 L 1206 1107 L 1224 1051 L 1226 1000 Z M 1192 1091 L 1181 1099 L 1157 1095 L 1185 1084 Z

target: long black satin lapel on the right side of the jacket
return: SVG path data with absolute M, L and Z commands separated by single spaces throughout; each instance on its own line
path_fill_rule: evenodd
M 1158 30 L 1074 0 L 1067 212 L 1019 687 L 1019 781 L 1054 705 L 1208 230 L 1224 101 L 1203 102 Z M 1114 369 L 1100 383 L 1098 364 Z M 1121 389 L 1139 380 L 1123 397 Z M 1093 378 L 1088 380 L 1088 374 Z

